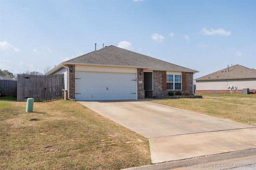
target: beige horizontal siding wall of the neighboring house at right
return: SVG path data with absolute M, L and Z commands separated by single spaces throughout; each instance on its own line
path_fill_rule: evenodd
M 233 80 L 196 80 L 196 90 L 227 90 L 227 86 L 256 89 L 256 78 Z

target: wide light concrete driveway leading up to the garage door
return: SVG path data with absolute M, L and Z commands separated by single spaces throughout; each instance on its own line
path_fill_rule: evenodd
M 149 139 L 152 163 L 256 148 L 256 127 L 145 100 L 79 102 Z

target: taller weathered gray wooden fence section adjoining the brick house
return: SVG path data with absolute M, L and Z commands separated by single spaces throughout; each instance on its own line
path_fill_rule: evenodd
M 17 101 L 48 101 L 62 98 L 64 74 L 49 76 L 18 74 Z

